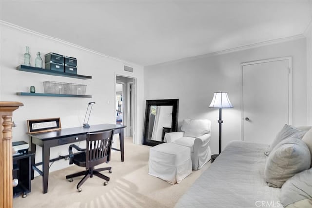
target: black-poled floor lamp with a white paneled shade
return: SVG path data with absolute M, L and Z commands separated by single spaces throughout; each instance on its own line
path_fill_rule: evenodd
M 210 108 L 219 108 L 219 154 L 221 153 L 221 144 L 222 144 L 222 140 L 221 140 L 221 132 L 222 132 L 222 108 L 233 108 L 228 94 L 227 92 L 217 92 L 214 94 L 213 100 L 211 101 Z M 211 155 L 211 162 L 214 162 L 215 158 L 217 158 L 217 156 L 219 156 L 219 154 L 213 154 Z

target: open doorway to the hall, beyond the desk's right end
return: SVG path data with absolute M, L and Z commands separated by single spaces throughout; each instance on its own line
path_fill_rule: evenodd
M 125 137 L 134 136 L 134 86 L 134 78 L 116 75 L 116 124 L 127 126 L 124 129 Z

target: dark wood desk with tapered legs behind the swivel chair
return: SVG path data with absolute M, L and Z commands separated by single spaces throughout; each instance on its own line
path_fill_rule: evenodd
M 92 125 L 90 128 L 83 128 L 83 127 L 74 127 L 74 128 L 67 128 L 61 129 L 58 131 L 53 132 L 44 132 L 44 133 L 34 133 L 28 134 L 30 136 L 30 151 L 31 153 L 36 153 L 36 145 L 42 147 L 42 162 L 35 164 L 35 156 L 32 157 L 32 173 L 31 179 L 34 179 L 34 170 L 39 172 L 42 176 L 42 186 L 43 186 L 43 193 L 48 192 L 48 180 L 49 180 L 49 164 L 52 161 L 60 160 L 65 157 L 58 157 L 55 159 L 50 159 L 50 148 L 84 141 L 87 138 L 87 133 L 94 133 L 94 132 L 102 132 L 107 130 L 114 130 L 114 134 L 119 134 L 120 140 L 120 149 L 112 148 L 113 150 L 117 150 L 121 152 L 121 161 L 124 161 L 124 142 L 123 142 L 123 129 L 126 126 L 118 125 L 118 124 L 98 124 Z M 108 160 L 110 159 L 110 156 Z M 39 170 L 36 166 L 42 165 L 42 171 Z

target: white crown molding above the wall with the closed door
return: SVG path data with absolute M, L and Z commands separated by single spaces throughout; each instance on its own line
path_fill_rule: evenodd
M 153 65 L 149 65 L 149 66 L 145 66 L 145 67 L 156 66 L 156 65 L 157 66 L 158 65 L 167 65 L 167 64 L 179 63 L 179 62 L 183 62 L 183 61 L 190 61 L 190 60 L 195 60 L 195 59 L 200 59 L 200 58 L 205 58 L 205 57 L 211 57 L 211 56 L 215 56 L 215 55 L 221 55 L 221 54 L 233 53 L 233 52 L 243 51 L 243 50 L 252 49 L 252 48 L 258 48 L 258 47 L 266 46 L 266 45 L 273 45 L 273 44 L 292 41 L 292 40 L 301 39 L 301 38 L 306 38 L 306 37 L 303 34 L 299 34 L 299 35 L 290 36 L 290 37 L 286 37 L 286 38 L 273 39 L 273 40 L 263 41 L 263 42 L 254 43 L 254 44 L 250 44 L 250 45 L 240 46 L 240 47 L 236 47 L 236 48 L 225 49 L 225 50 L 216 51 L 216 52 L 203 54 L 203 55 L 198 55 L 198 56 L 194 56 L 194 57 L 181 58 L 178 60 L 168 61 L 168 62 L 159 63 L 159 64 L 153 64 Z

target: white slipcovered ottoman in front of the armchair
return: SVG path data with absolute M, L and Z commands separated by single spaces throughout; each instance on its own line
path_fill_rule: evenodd
M 192 173 L 191 150 L 174 143 L 162 143 L 150 148 L 148 174 L 170 184 L 180 183 Z

